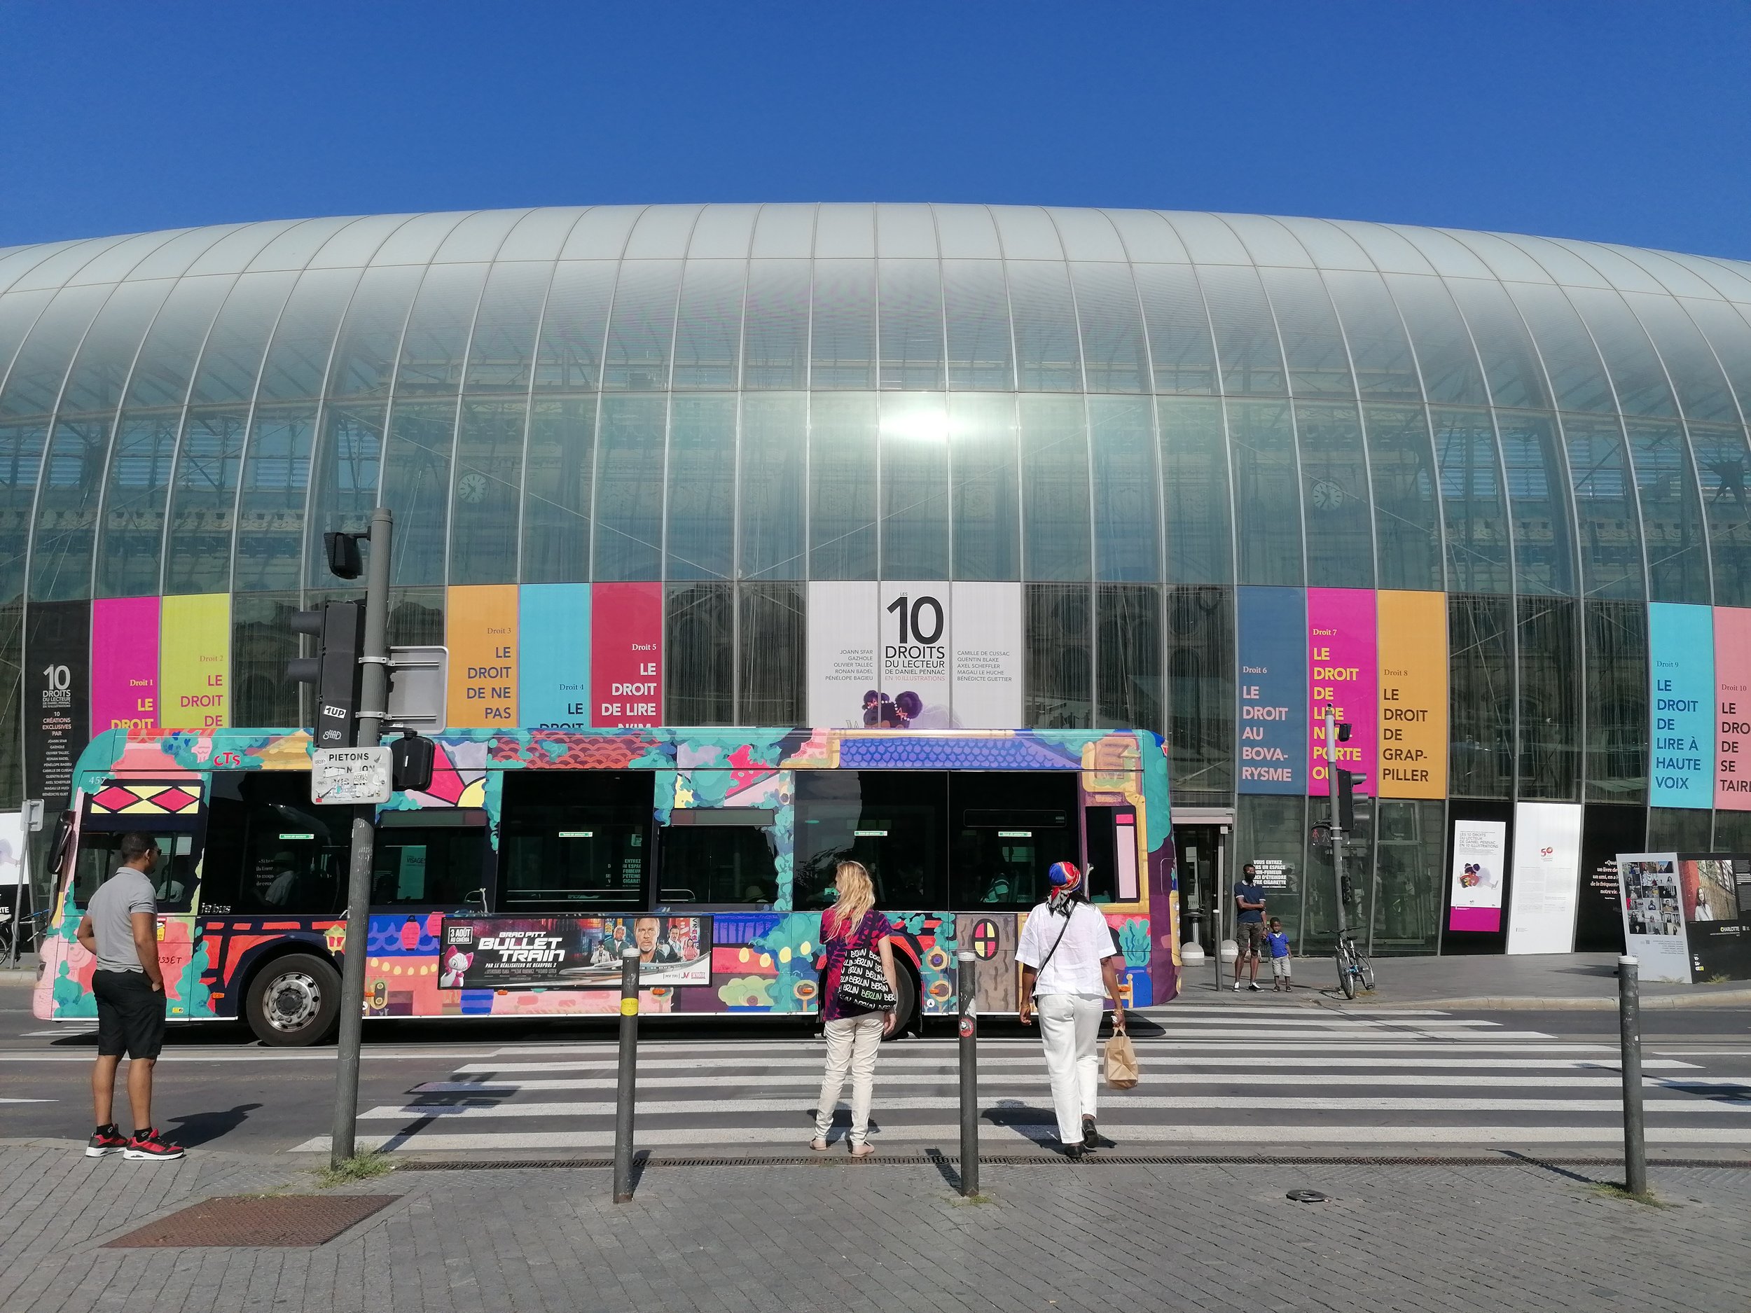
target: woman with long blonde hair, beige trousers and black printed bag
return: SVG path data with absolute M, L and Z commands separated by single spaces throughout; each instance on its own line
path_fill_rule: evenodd
M 876 886 L 861 861 L 840 861 L 833 875 L 839 893 L 821 914 L 821 1017 L 826 1021 L 826 1071 L 814 1103 L 814 1140 L 809 1148 L 826 1152 L 833 1108 L 846 1077 L 851 1077 L 853 1157 L 868 1157 L 870 1094 L 876 1089 L 876 1050 L 893 1029 L 900 1001 L 898 973 L 888 917 L 876 910 Z

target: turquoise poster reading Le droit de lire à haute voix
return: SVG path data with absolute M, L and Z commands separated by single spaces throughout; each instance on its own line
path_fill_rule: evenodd
M 1714 805 L 1714 611 L 1648 604 L 1655 807 Z

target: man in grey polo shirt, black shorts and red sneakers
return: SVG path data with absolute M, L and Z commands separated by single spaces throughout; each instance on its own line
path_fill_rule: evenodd
M 121 837 L 117 856 L 121 867 L 91 895 L 79 923 L 79 942 L 98 959 L 91 973 L 91 993 L 98 1000 L 91 1103 L 98 1124 L 86 1157 L 179 1159 L 182 1147 L 152 1129 L 152 1064 L 165 1047 L 165 973 L 158 965 L 158 898 L 147 872 L 161 853 L 151 835 L 128 833 Z M 124 1052 L 133 1136 L 123 1136 L 112 1119 L 116 1068 Z

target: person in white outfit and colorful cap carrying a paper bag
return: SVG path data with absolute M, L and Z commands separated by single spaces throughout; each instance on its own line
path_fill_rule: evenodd
M 1052 1106 L 1065 1157 L 1082 1157 L 1101 1143 L 1094 1127 L 1100 1087 L 1101 1001 L 1112 998 L 1114 1031 L 1124 1033 L 1119 952 L 1107 917 L 1082 891 L 1082 872 L 1070 861 L 1052 865 L 1052 891 L 1028 912 L 1016 945 L 1021 963 L 1021 1024 L 1040 1014 L 1045 1070 L 1052 1077 Z

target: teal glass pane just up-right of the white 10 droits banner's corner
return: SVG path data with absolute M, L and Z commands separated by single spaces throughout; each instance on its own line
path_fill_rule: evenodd
M 1021 541 L 1028 579 L 1091 576 L 1082 404 L 1082 397 L 1021 397 Z

